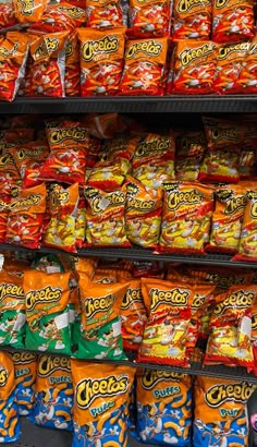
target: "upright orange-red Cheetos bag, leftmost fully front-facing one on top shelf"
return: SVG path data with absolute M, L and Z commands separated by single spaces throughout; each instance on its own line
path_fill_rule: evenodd
M 123 69 L 125 28 L 78 28 L 82 96 L 113 95 Z

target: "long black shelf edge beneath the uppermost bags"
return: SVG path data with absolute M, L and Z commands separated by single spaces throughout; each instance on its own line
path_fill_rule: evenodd
M 233 113 L 257 112 L 257 95 L 89 98 L 17 98 L 0 101 L 0 113 Z

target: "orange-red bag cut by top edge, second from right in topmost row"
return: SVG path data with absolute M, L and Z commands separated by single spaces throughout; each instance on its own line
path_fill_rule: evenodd
M 173 40 L 208 40 L 211 32 L 211 1 L 198 0 L 191 3 L 186 0 L 174 0 L 173 3 Z

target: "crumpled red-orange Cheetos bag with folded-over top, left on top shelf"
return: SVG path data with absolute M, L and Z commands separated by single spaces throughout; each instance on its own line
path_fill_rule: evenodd
M 65 45 L 68 33 L 37 36 L 30 44 L 33 57 L 32 96 L 65 96 Z

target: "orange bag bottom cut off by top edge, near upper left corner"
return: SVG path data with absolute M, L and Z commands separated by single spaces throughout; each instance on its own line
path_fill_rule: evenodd
M 22 25 L 40 21 L 48 0 L 13 0 L 15 17 Z

